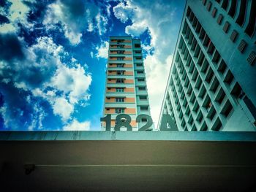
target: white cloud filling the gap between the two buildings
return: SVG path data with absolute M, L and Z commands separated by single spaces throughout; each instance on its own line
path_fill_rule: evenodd
M 165 93 L 167 77 L 176 45 L 176 34 L 179 26 L 173 23 L 176 7 L 170 1 L 132 1 L 119 3 L 113 7 L 116 18 L 125 23 L 131 20 L 132 24 L 126 26 L 125 32 L 138 37 L 148 30 L 151 37 L 150 45 L 142 45 L 146 53 L 154 48 L 152 55 L 148 54 L 144 61 L 148 97 L 151 106 L 151 115 L 157 125 L 162 99 Z

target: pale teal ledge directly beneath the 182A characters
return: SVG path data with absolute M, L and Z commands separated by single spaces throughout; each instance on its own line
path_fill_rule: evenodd
M 0 141 L 159 140 L 255 142 L 256 132 L 184 131 L 0 131 Z

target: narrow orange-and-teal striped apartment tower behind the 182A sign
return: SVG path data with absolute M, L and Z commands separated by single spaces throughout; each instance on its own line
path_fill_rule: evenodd
M 116 124 L 116 115 L 130 115 L 132 131 L 147 122 L 143 118 L 136 123 L 138 115 L 150 115 L 140 39 L 110 37 L 103 115 L 108 114 L 111 115 L 111 130 Z M 102 129 L 105 130 L 105 123 Z

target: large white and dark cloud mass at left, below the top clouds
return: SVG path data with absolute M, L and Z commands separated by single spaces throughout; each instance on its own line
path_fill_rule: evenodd
M 42 128 L 47 115 L 38 103 L 42 99 L 48 101 L 53 114 L 59 115 L 63 123 L 72 118 L 76 104 L 88 105 L 91 74 L 75 58 L 70 58 L 71 66 L 61 62 L 68 55 L 64 47 L 50 37 L 39 37 L 31 47 L 15 34 L 0 34 L 0 40 L 15 46 L 15 51 L 4 47 L 5 52 L 0 54 L 0 86 L 5 88 L 0 112 L 6 127 Z M 27 97 L 24 101 L 27 95 L 41 99 Z

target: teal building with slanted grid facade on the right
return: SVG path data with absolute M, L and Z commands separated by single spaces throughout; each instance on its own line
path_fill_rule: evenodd
M 160 115 L 179 131 L 256 131 L 255 0 L 188 0 Z

